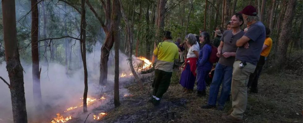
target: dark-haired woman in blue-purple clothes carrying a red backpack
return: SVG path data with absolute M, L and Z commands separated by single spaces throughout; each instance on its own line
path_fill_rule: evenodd
M 203 45 L 200 48 L 199 58 L 197 61 L 197 94 L 198 96 L 205 96 L 205 79 L 212 68 L 212 64 L 209 62 L 209 56 L 211 54 L 211 42 L 209 40 L 209 34 L 207 32 L 201 33 L 199 40 L 200 42 L 203 42 Z

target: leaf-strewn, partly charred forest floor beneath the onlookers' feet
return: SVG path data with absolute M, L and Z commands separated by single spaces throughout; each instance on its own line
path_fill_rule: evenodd
M 301 58 L 298 58 L 301 57 Z M 245 123 L 284 123 L 302 121 L 302 55 L 290 60 L 280 73 L 262 73 L 259 78 L 259 93 L 248 93 L 247 109 L 243 121 Z M 222 113 L 232 111 L 232 102 L 227 102 L 223 111 L 201 109 L 207 96 L 197 97 L 194 93 L 183 95 L 179 84 L 180 71 L 174 69 L 168 91 L 164 94 L 160 105 L 154 107 L 147 102 L 152 92 L 150 78 L 145 79 L 142 92 L 135 82 L 126 85 L 131 96 L 121 100 L 121 106 L 108 111 L 107 117 L 98 122 L 171 122 L 171 123 L 222 123 Z M 220 92 L 218 97 L 220 96 Z

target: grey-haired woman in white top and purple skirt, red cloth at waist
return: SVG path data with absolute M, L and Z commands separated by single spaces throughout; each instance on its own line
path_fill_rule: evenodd
M 197 60 L 199 58 L 199 44 L 196 40 L 197 39 L 193 34 L 188 34 L 185 37 L 185 42 L 189 50 L 185 60 L 185 67 L 180 78 L 180 84 L 184 88 L 183 94 L 191 93 L 194 89 L 197 75 Z

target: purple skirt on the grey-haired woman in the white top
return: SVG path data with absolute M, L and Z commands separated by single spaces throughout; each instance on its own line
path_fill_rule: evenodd
M 187 64 L 184 69 L 181 73 L 180 84 L 186 89 L 194 89 L 196 77 L 190 71 L 190 65 Z

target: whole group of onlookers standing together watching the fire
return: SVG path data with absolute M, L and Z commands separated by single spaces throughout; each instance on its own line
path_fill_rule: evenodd
M 247 27 L 241 30 L 243 24 Z M 160 104 L 169 87 L 173 65 L 180 59 L 183 63 L 180 67 L 182 94 L 193 93 L 197 81 L 197 96 L 203 97 L 207 94 L 208 85 L 208 101 L 201 108 L 223 110 L 225 102 L 232 98 L 233 112 L 222 114 L 221 118 L 242 122 L 247 89 L 258 93 L 258 78 L 271 50 L 272 40 L 270 30 L 259 21 L 253 6 L 246 6 L 233 15 L 225 29 L 217 26 L 213 39 L 208 32 L 199 30 L 199 35 L 187 34 L 184 42 L 177 38 L 175 43 L 170 32 L 164 32 L 164 41 L 153 52 L 157 62 L 150 101 L 154 105 Z M 220 97 L 217 98 L 221 85 Z

